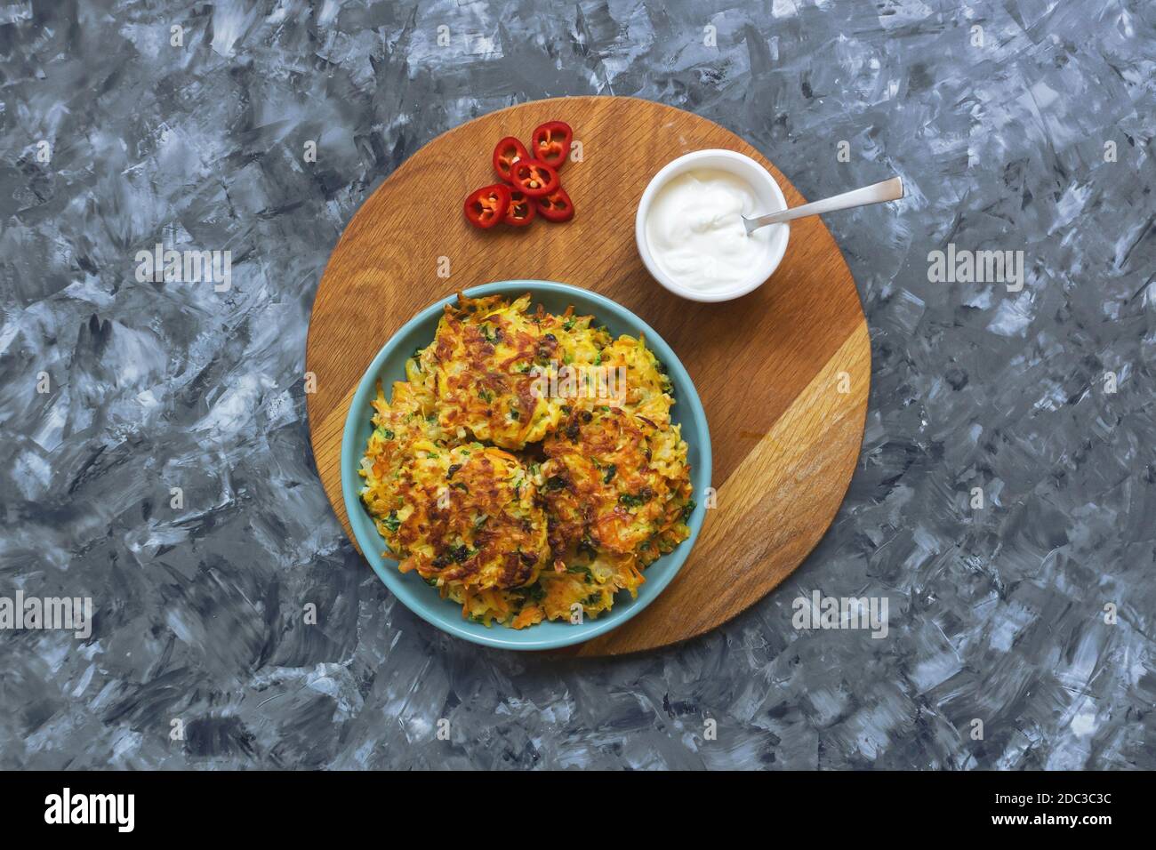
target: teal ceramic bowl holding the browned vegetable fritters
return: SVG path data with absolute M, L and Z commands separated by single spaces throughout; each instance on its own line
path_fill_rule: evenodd
M 443 298 L 417 313 L 393 335 L 393 339 L 385 343 L 385 347 L 370 363 L 361 384 L 357 385 L 357 392 L 349 407 L 349 417 L 346 420 L 346 429 L 341 438 L 341 490 L 346 501 L 346 511 L 349 513 L 349 525 L 354 530 L 357 545 L 365 554 L 373 571 L 407 608 L 443 631 L 486 646 L 511 650 L 548 650 L 583 643 L 617 628 L 650 605 L 662 592 L 662 589 L 674 579 L 703 527 L 706 501 L 703 498 L 703 493 L 711 486 L 711 439 L 706 429 L 706 414 L 703 413 L 703 404 L 698 399 L 695 384 L 687 370 L 679 362 L 670 347 L 662 341 L 662 338 L 624 306 L 586 289 L 541 280 L 487 283 L 468 289 L 466 295 L 477 297 L 502 294 L 514 298 L 526 293 L 533 297 L 533 304 L 542 304 L 550 312 L 563 312 L 573 304 L 575 312 L 580 316 L 595 317 L 615 337 L 624 333 L 631 337 L 645 334 L 647 347 L 666 364 L 667 372 L 674 382 L 675 405 L 670 411 L 670 417 L 682 424 L 682 437 L 687 441 L 688 460 L 690 461 L 694 498 L 698 504 L 688 523 L 690 537 L 679 544 L 673 552 L 646 568 L 644 571 L 646 581 L 638 589 L 638 597 L 631 599 L 629 593 L 622 592 L 615 598 L 614 607 L 610 611 L 596 620 L 584 620 L 580 623 L 542 622 L 520 630 L 498 624 L 487 628 L 481 623 L 464 619 L 461 606 L 449 599 L 442 599 L 437 591 L 427 585 L 416 572 L 400 572 L 398 562 L 381 554 L 386 548 L 385 540 L 378 533 L 377 526 L 357 495 L 362 487 L 362 479 L 357 474 L 357 470 L 372 430 L 370 402 L 377 394 L 378 380 L 385 387 L 386 397 L 388 397 L 394 380 L 405 380 L 406 359 L 415 348 L 424 347 L 433 339 L 443 308 L 454 301 L 457 296 Z

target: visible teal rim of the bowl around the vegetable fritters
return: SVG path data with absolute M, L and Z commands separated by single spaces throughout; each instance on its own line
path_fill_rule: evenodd
M 647 347 L 659 356 L 672 378 L 675 379 L 676 385 L 679 385 L 677 400 L 680 404 L 686 404 L 686 408 L 683 408 L 684 412 L 680 412 L 680 417 L 683 419 L 683 421 L 686 421 L 687 416 L 692 419 L 695 428 L 701 435 L 701 445 L 697 446 L 701 456 L 701 472 L 698 474 L 704 475 L 702 489 L 711 486 L 713 458 L 711 454 L 710 429 L 706 423 L 706 413 L 703 409 L 702 400 L 698 398 L 698 390 L 695 387 L 695 383 L 686 367 L 682 364 L 682 361 L 679 360 L 670 346 L 667 345 L 666 340 L 664 340 L 659 333 L 654 331 L 654 328 L 643 321 L 631 310 L 628 310 L 605 295 L 600 295 L 590 289 L 583 289 L 581 287 L 571 286 L 569 283 L 560 283 L 557 281 L 528 279 L 495 281 L 491 283 L 479 284 L 476 287 L 469 287 L 465 290 L 465 294 L 469 297 L 480 297 L 499 293 L 510 294 L 512 291 L 517 291 L 519 295 L 528 291 L 532 296 L 534 296 L 535 293 L 577 295 L 593 302 L 598 310 L 607 315 L 606 317 L 613 317 L 614 319 L 618 319 L 620 323 L 630 325 L 636 334 L 645 334 Z M 349 412 L 346 415 L 346 423 L 341 435 L 341 495 L 346 507 L 346 513 L 349 518 L 349 527 L 353 530 L 354 539 L 361 547 L 364 560 L 369 562 L 373 572 L 377 574 L 378 578 L 386 585 L 390 592 L 410 612 L 442 631 L 464 638 L 470 643 L 507 650 L 551 650 L 585 643 L 586 641 L 617 628 L 622 623 L 636 616 L 655 598 L 658 598 L 658 596 L 681 571 L 682 566 L 694 548 L 694 545 L 698 539 L 698 533 L 703 526 L 703 519 L 705 516 L 705 498 L 701 493 L 697 493 L 699 488 L 695 488 L 698 503 L 687 523 L 690 527 L 690 535 L 680 542 L 673 552 L 667 553 L 659 559 L 673 559 L 667 563 L 667 566 L 672 568 L 668 569 L 665 575 L 657 576 L 653 581 L 649 581 L 644 584 L 643 587 L 647 587 L 649 585 L 645 596 L 642 591 L 639 591 L 638 599 L 633 600 L 633 604 L 629 607 L 621 609 L 622 613 L 617 618 L 612 619 L 603 615 L 598 620 L 584 619 L 580 626 L 573 627 L 575 633 L 572 636 L 566 635 L 561 637 L 535 638 L 533 629 L 519 631 L 509 629 L 504 626 L 494 626 L 486 629 L 484 633 L 479 633 L 467 628 L 466 622 L 458 622 L 454 618 L 439 618 L 438 615 L 425 611 L 423 606 L 417 603 L 416 594 L 414 594 L 413 591 L 418 589 L 406 584 L 402 581 L 405 576 L 399 572 L 395 567 L 394 569 L 386 568 L 387 564 L 395 564 L 395 562 L 386 561 L 383 555 L 377 554 L 379 546 L 377 541 L 380 540 L 380 535 L 377 533 L 377 529 L 373 527 L 369 515 L 362 508 L 361 498 L 357 495 L 361 489 L 362 480 L 357 474 L 362 458 L 362 450 L 357 445 L 357 426 L 360 421 L 358 412 L 365 412 L 369 407 L 370 400 L 376 396 L 379 374 L 385 362 L 393 356 L 400 340 L 409 334 L 417 325 L 421 325 L 435 316 L 440 315 L 444 306 L 455 301 L 457 297 L 457 294 L 454 294 L 438 300 L 429 306 L 420 310 L 413 318 L 399 327 L 393 335 L 390 337 L 385 345 L 381 346 L 380 350 L 378 350 L 377 355 L 370 362 L 357 384 L 357 390 L 349 404 Z M 600 313 L 595 312 L 595 315 L 600 319 L 606 318 Z M 658 562 L 655 561 L 655 563 Z M 647 568 L 647 571 L 653 566 L 654 564 L 651 564 L 651 567 Z M 445 600 L 439 601 L 445 603 Z M 451 608 L 447 608 L 447 611 L 450 609 Z M 455 616 L 460 615 L 460 612 L 457 608 L 452 608 L 452 612 Z M 510 634 L 506 635 L 505 633 Z M 514 635 L 518 636 L 517 640 L 512 640 L 512 636 Z

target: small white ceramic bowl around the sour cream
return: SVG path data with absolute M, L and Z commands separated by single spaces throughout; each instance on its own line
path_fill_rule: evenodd
M 725 289 L 712 289 L 709 291 L 691 289 L 679 283 L 661 269 L 650 251 L 650 245 L 646 242 L 646 215 L 650 212 L 654 195 L 658 194 L 658 191 L 667 182 L 695 168 L 718 169 L 741 178 L 750 186 L 755 193 L 755 198 L 758 200 L 757 214 L 777 213 L 780 209 L 787 208 L 787 201 L 783 197 L 783 190 L 779 189 L 779 184 L 775 182 L 775 178 L 771 177 L 765 168 L 749 156 L 724 149 L 695 150 L 667 163 L 661 171 L 654 175 L 650 185 L 646 186 L 646 191 L 643 192 L 643 198 L 638 201 L 638 213 L 635 215 L 635 242 L 638 244 L 638 253 L 643 258 L 646 271 L 651 273 L 654 280 L 675 295 L 691 301 L 729 301 L 731 298 L 738 298 L 761 287 L 775 273 L 775 269 L 778 268 L 779 263 L 783 260 L 783 254 L 787 250 L 790 226 L 772 224 L 769 228 L 770 250 L 764 261 L 761 265 L 751 267 L 750 274 L 744 280 Z

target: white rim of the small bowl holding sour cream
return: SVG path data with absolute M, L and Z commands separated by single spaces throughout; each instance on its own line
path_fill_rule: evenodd
M 654 280 L 679 297 L 703 303 L 716 303 L 720 301 L 741 298 L 743 295 L 755 291 L 758 287 L 763 286 L 771 279 L 771 275 L 775 274 L 776 269 L 778 269 L 779 265 L 783 263 L 783 258 L 786 256 L 787 244 L 791 241 L 791 224 L 785 223 L 780 226 L 783 239 L 781 242 L 772 244 L 766 265 L 759 266 L 758 269 L 750 273 L 750 276 L 747 280 L 731 287 L 729 289 L 721 289 L 714 293 L 701 291 L 684 287 L 670 278 L 659 267 L 658 261 L 651 254 L 650 244 L 646 239 L 646 214 L 650 212 L 654 195 L 658 194 L 658 191 L 666 183 L 677 176 L 675 173 L 676 171 L 681 172 L 696 160 L 705 158 L 729 160 L 732 162 L 740 162 L 751 168 L 761 176 L 761 178 L 763 178 L 764 185 L 770 189 L 771 194 L 779 205 L 778 209 L 787 208 L 787 199 L 786 195 L 783 194 L 783 187 L 779 186 L 778 180 L 775 179 L 771 172 L 768 171 L 761 162 L 747 156 L 746 154 L 740 154 L 738 150 L 731 150 L 728 148 L 704 148 L 702 150 L 691 150 L 688 154 L 683 154 L 682 156 L 670 160 L 670 162 L 659 169 L 658 173 L 655 173 L 650 179 L 650 183 L 646 184 L 646 189 L 643 191 L 642 198 L 638 200 L 638 209 L 635 213 L 635 245 L 638 250 L 638 256 L 643 260 L 643 265 L 646 266 L 646 271 L 650 272 Z M 757 187 L 753 189 L 756 189 L 757 191 Z M 769 209 L 766 212 L 773 213 L 778 210 Z

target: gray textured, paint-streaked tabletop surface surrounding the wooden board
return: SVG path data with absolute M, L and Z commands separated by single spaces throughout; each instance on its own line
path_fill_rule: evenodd
M 1156 7 L 961 6 L 0 7 L 0 596 L 97 612 L 88 641 L 0 633 L 0 766 L 1156 768 Z M 328 509 L 301 376 L 378 182 L 590 93 L 716 119 L 813 198 L 892 170 L 912 195 L 829 222 L 874 383 L 818 549 L 689 645 L 560 663 L 394 603 Z M 136 282 L 158 241 L 230 249 L 232 289 Z M 947 242 L 1023 250 L 1023 291 L 928 282 Z M 816 589 L 885 596 L 888 637 L 794 630 Z

